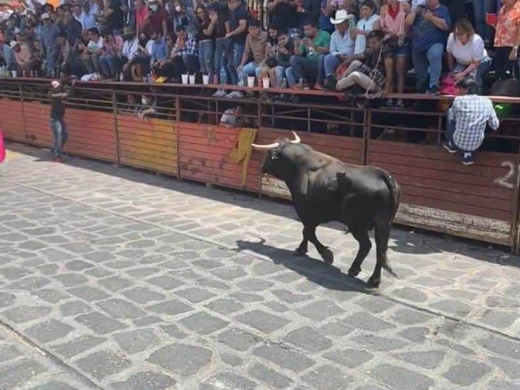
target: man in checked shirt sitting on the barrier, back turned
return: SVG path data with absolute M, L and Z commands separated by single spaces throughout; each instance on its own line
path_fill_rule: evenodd
M 448 110 L 444 148 L 462 154 L 462 163 L 475 162 L 475 151 L 484 141 L 486 126 L 497 130 L 499 119 L 488 97 L 478 96 L 479 84 L 474 77 L 464 77 L 457 83 L 459 96 Z

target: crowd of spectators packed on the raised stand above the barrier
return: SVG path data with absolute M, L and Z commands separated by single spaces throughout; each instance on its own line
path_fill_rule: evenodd
M 222 85 L 222 97 L 243 96 L 225 85 L 265 84 L 402 93 L 412 68 L 416 92 L 442 92 L 443 70 L 482 88 L 489 70 L 516 71 L 520 44 L 517 0 L 270 0 L 264 15 L 242 0 L 23 1 L 0 25 L 4 71 L 136 82 L 188 74 Z

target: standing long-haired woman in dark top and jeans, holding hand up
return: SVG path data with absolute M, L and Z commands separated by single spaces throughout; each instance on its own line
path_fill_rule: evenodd
M 210 13 L 206 11 L 203 6 L 197 6 L 195 9 L 197 20 L 197 42 L 199 44 L 199 68 L 200 72 L 210 76 L 213 81 L 213 64 L 215 63 L 215 47 L 214 38 L 217 32 L 217 13 Z

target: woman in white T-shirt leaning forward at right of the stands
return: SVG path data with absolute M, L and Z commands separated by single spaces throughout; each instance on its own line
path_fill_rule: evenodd
M 448 37 L 448 67 L 455 81 L 466 76 L 473 76 L 482 91 L 482 76 L 491 67 L 491 58 L 484 48 L 484 40 L 475 33 L 467 19 L 459 19 L 455 23 L 454 32 Z

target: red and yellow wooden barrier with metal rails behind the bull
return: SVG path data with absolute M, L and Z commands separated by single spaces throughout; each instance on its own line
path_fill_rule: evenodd
M 397 222 L 519 248 L 519 117 L 502 120 L 499 131 L 489 134 L 477 151 L 475 165 L 462 166 L 457 156 L 440 147 L 448 97 L 403 95 L 418 104 L 395 111 L 352 106 L 335 92 L 254 88 L 246 90 L 251 96 L 230 100 L 212 97 L 216 88 L 78 82 L 67 99 L 66 151 L 177 178 L 289 197 L 283 183 L 260 175 L 261 153 L 253 153 L 245 168 L 230 158 L 240 129 L 220 125 L 220 117 L 240 105 L 243 126 L 258 129 L 259 143 L 271 143 L 296 130 L 318 151 L 347 163 L 389 170 L 403 187 Z M 50 146 L 47 92 L 48 80 L 0 79 L 0 126 L 6 139 Z M 298 94 L 302 102 L 271 101 L 265 93 Z M 143 96 L 153 102 L 149 105 L 154 112 L 140 119 Z M 520 102 L 493 99 L 514 107 Z

